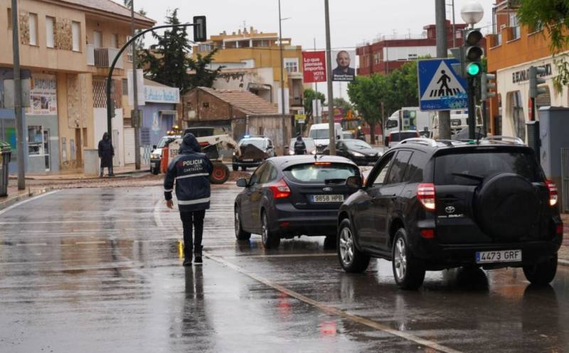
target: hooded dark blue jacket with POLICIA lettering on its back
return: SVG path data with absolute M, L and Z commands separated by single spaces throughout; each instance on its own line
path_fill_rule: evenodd
M 174 182 L 180 212 L 193 212 L 209 208 L 209 175 L 213 165 L 201 153 L 201 147 L 193 134 L 186 134 L 181 143 L 179 155 L 168 165 L 164 178 L 164 197 L 172 199 Z

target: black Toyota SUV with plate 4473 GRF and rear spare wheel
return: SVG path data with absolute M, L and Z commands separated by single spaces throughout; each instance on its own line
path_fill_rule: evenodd
M 522 267 L 528 281 L 555 277 L 563 223 L 557 188 L 531 148 L 515 138 L 408 139 L 376 163 L 339 210 L 338 256 L 348 272 L 370 257 L 393 264 L 401 288 L 425 271 Z

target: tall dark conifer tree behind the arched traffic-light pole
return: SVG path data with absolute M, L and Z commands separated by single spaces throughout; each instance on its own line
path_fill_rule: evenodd
M 178 9 L 166 16 L 167 24 L 180 24 Z M 150 80 L 171 87 L 178 87 L 184 94 L 199 86 L 211 87 L 223 67 L 210 70 L 213 63 L 213 50 L 206 56 L 197 55 L 196 60 L 190 58 L 191 46 L 186 28 L 171 28 L 164 31 L 163 36 L 152 33 L 158 41 L 150 49 L 143 50 L 142 64 L 147 65 L 147 76 Z

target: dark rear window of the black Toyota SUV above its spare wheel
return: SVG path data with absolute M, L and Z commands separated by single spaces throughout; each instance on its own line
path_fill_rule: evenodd
M 477 178 L 497 173 L 516 173 L 532 183 L 543 181 L 536 158 L 528 153 L 476 151 L 438 156 L 435 160 L 435 185 L 479 185 Z

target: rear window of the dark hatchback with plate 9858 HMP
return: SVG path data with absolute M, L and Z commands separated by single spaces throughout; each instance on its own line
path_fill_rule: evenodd
M 299 164 L 284 170 L 287 178 L 299 183 L 340 183 L 353 175 L 359 175 L 358 168 L 354 165 L 331 163 L 331 164 Z

